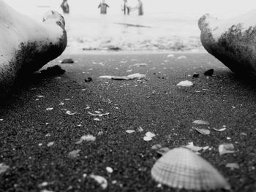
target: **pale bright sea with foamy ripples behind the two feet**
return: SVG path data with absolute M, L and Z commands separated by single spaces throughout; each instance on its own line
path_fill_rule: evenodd
M 61 11 L 61 0 L 7 0 L 13 8 L 36 20 L 50 9 Z M 121 0 L 106 0 L 107 15 L 100 15 L 99 1 L 69 0 L 64 15 L 68 34 L 66 53 L 90 50 L 202 51 L 197 20 L 205 13 L 230 18 L 256 9 L 255 0 L 144 0 L 145 14 L 121 11 Z M 136 0 L 129 0 L 136 7 Z

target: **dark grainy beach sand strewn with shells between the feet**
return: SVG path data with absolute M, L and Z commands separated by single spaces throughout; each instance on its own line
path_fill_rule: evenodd
M 63 58 L 78 63 L 60 64 L 67 72 L 59 76 L 29 77 L 0 109 L 0 163 L 10 166 L 0 175 L 0 191 L 102 191 L 89 178 L 92 173 L 108 180 L 105 191 L 178 191 L 157 187 L 151 179 L 151 167 L 159 158 L 151 146 L 174 148 L 189 142 L 212 147 L 201 155 L 222 172 L 233 191 L 256 191 L 255 85 L 211 55 L 174 55 L 62 55 L 48 66 Z M 187 58 L 177 59 L 179 55 Z M 140 63 L 148 66 L 132 66 Z M 132 72 L 126 72 L 129 69 Z M 214 69 L 213 77 L 203 75 L 207 69 Z M 146 80 L 98 78 L 135 72 L 146 74 Z M 189 76 L 193 73 L 200 76 Z M 84 81 L 88 77 L 91 82 Z M 177 87 L 182 80 L 195 85 Z M 49 107 L 53 110 L 46 110 Z M 65 109 L 78 113 L 67 115 Z M 110 115 L 94 120 L 88 112 L 99 109 Z M 202 135 L 192 129 L 194 120 L 227 129 Z M 128 129 L 135 133 L 127 134 Z M 157 136 L 146 142 L 147 131 Z M 96 141 L 75 144 L 86 134 Z M 48 147 L 49 142 L 53 146 Z M 233 143 L 236 153 L 219 155 L 218 146 L 225 142 Z M 77 158 L 68 157 L 78 149 Z M 231 170 L 227 163 L 238 163 L 240 169 Z M 44 182 L 46 186 L 39 185 Z

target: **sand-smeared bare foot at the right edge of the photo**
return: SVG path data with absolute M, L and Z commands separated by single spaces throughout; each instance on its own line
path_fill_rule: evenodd
M 203 47 L 231 71 L 256 77 L 256 12 L 219 20 L 206 14 L 198 20 Z

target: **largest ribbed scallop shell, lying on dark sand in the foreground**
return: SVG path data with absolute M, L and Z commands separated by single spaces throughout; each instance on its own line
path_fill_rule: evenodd
M 151 169 L 158 183 L 187 190 L 230 189 L 230 184 L 206 160 L 185 148 L 175 148 L 159 158 Z

